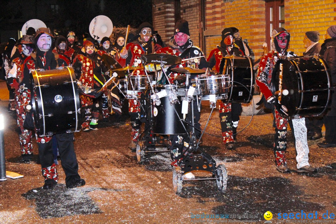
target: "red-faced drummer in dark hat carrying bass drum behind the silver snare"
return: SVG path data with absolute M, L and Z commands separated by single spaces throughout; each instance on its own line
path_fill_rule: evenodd
M 234 28 L 234 27 L 233 27 Z M 241 39 L 237 38 L 237 42 L 241 43 L 241 47 L 235 44 L 235 34 L 239 33 L 237 28 L 225 28 L 222 31 L 222 41 L 220 46 L 212 50 L 208 57 L 209 68 L 216 66 L 216 70 L 219 74 L 225 73 L 227 69 L 227 60 L 222 58 L 226 55 L 236 55 L 243 57 L 245 56 L 244 43 Z M 238 34 L 239 36 L 239 34 Z M 246 43 L 245 43 L 246 44 Z M 241 49 L 242 48 L 242 49 Z M 250 48 L 248 48 L 250 49 Z M 250 53 L 250 51 L 247 51 Z M 225 100 L 220 100 L 219 103 L 219 120 L 222 130 L 223 142 L 226 145 L 226 148 L 233 149 L 234 142 L 237 137 L 237 127 L 239 123 L 239 116 L 242 113 L 242 104 L 241 103 L 225 103 Z

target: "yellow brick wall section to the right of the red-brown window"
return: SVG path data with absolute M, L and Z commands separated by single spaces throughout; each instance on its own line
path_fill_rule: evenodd
M 302 56 L 307 31 L 319 31 L 320 43 L 323 43 L 328 27 L 336 25 L 335 20 L 336 0 L 285 1 L 285 28 L 291 34 L 290 50 Z

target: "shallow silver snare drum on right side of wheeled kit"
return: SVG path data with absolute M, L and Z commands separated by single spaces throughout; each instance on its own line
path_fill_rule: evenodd
M 227 93 L 229 88 L 229 76 L 197 77 L 196 86 L 200 95 Z

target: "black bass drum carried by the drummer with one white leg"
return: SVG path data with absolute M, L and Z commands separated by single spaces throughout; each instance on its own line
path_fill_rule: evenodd
M 319 116 L 331 103 L 332 83 L 327 62 L 320 56 L 280 58 L 272 74 L 276 108 L 284 117 Z

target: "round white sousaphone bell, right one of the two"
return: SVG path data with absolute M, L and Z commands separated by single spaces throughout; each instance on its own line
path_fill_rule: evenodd
M 94 17 L 89 26 L 89 32 L 93 39 L 100 41 L 103 37 L 110 37 L 113 24 L 109 17 L 98 15 Z

